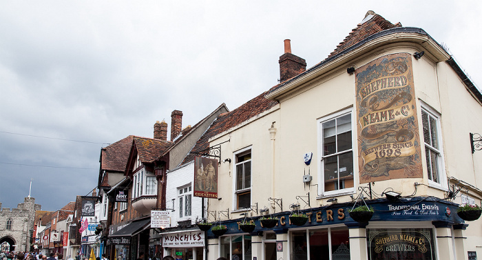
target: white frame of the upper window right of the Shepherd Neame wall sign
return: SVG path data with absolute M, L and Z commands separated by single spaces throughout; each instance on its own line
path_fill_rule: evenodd
M 433 188 L 441 188 L 443 190 L 446 190 L 447 188 L 447 181 L 446 181 L 446 172 L 445 172 L 445 160 L 443 158 L 443 141 L 442 141 L 442 131 L 441 131 L 441 114 L 434 109 L 430 108 L 430 106 L 426 105 L 425 103 L 421 102 L 420 105 L 420 125 L 421 125 L 421 143 L 423 143 L 423 163 L 425 163 L 425 169 L 423 170 L 424 175 L 423 178 L 426 178 L 428 180 L 428 185 Z M 426 112 L 429 117 L 429 123 L 430 123 L 430 117 L 435 119 L 435 122 L 437 123 L 437 141 L 439 142 L 439 148 L 434 148 L 430 144 L 425 142 L 425 136 L 423 135 L 423 116 L 422 112 Z M 438 179 L 439 183 L 436 181 L 432 181 L 428 179 L 428 165 L 427 165 L 427 154 L 425 152 L 426 148 L 433 150 L 434 152 L 438 152 L 439 156 L 437 158 L 437 167 L 438 167 Z M 430 166 L 431 167 L 431 166 Z

